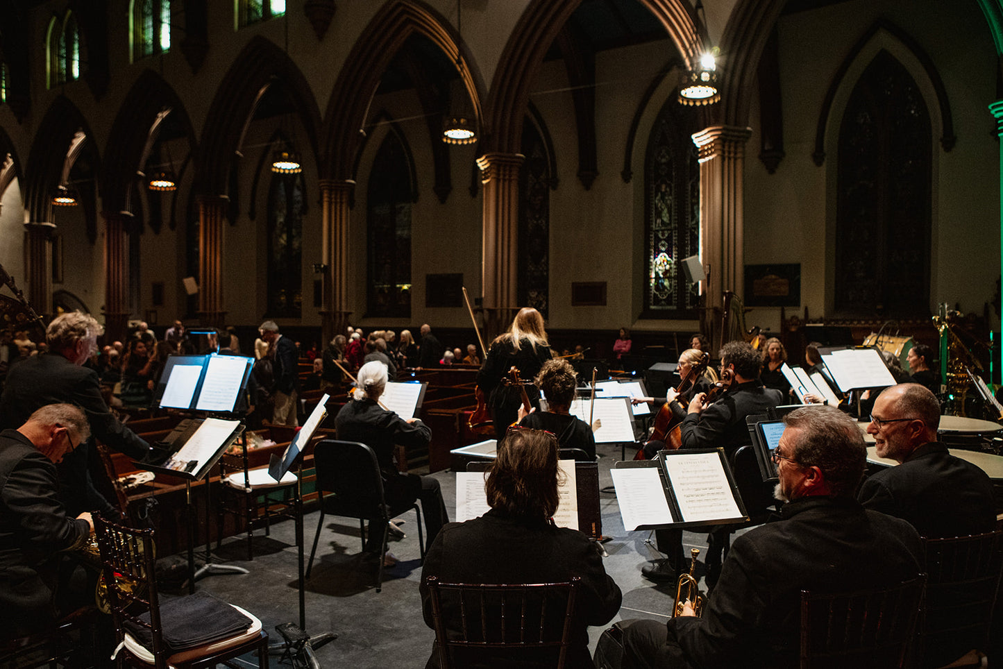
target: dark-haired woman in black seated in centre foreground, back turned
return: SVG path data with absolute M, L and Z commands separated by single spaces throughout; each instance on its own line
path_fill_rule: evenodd
M 571 645 L 566 666 L 591 667 L 589 625 L 605 625 L 620 610 L 620 588 L 606 574 L 596 545 L 575 530 L 558 528 L 553 516 L 558 508 L 558 441 L 542 430 L 513 429 L 500 442 L 497 457 L 484 484 L 491 510 L 465 523 L 442 528 L 425 555 L 421 570 L 421 608 L 425 624 L 434 628 L 431 599 L 425 579 L 443 583 L 523 584 L 560 583 L 581 578 L 575 595 Z M 448 600 L 442 616 L 446 633 L 457 630 L 459 611 Z M 549 617 L 555 628 L 546 634 L 560 638 L 563 616 Z M 518 639 L 518 630 L 513 630 Z M 539 653 L 520 651 L 507 655 L 489 649 L 476 657 L 453 653 L 454 666 L 550 667 L 555 649 Z M 438 650 L 432 647 L 426 667 L 437 667 Z

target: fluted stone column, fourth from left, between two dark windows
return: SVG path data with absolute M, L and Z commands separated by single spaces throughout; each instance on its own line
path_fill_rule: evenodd
M 337 334 L 345 334 L 348 317 L 348 200 L 355 182 L 324 179 L 321 194 L 321 334 L 326 346 Z

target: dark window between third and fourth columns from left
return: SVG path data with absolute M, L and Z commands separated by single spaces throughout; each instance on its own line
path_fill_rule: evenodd
M 268 315 L 303 310 L 303 175 L 273 175 L 268 194 Z

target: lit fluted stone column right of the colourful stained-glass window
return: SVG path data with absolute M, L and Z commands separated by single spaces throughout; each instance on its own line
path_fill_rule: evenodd
M 701 326 L 713 350 L 721 345 L 721 297 L 734 291 L 744 299 L 742 174 L 747 127 L 713 125 L 693 134 L 700 161 L 700 257 L 707 273 L 706 310 Z

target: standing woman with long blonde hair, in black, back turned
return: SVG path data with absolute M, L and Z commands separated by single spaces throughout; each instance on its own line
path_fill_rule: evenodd
M 503 379 L 516 367 L 524 383 L 531 381 L 551 357 L 544 317 L 533 307 L 520 309 L 509 331 L 491 342 L 477 373 L 477 386 L 487 398 L 498 441 L 505 437 L 509 425 L 518 420 L 519 407 L 523 404 L 519 386 L 503 383 Z M 540 390 L 532 384 L 525 384 L 523 388 L 530 404 L 539 409 Z

